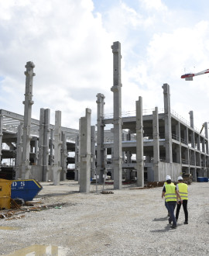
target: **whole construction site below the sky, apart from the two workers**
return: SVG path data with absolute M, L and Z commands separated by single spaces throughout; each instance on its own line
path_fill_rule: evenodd
M 105 95 L 98 92 L 97 123 L 91 123 L 88 108 L 78 116 L 77 130 L 61 126 L 62 109 L 53 124 L 50 109 L 40 109 L 39 119 L 33 119 L 31 61 L 24 114 L 0 109 L 2 254 L 209 254 L 208 122 L 197 130 L 195 109 L 189 121 L 174 112 L 172 86 L 166 83 L 159 85 L 163 109 L 143 109 L 139 95 L 135 112 L 123 113 L 121 43 L 114 42 L 111 50 L 113 114 L 105 114 Z M 166 175 L 173 182 L 182 176 L 193 196 L 191 224 L 178 223 L 177 234 L 166 225 L 160 198 Z M 165 244 L 166 232 L 175 243 Z

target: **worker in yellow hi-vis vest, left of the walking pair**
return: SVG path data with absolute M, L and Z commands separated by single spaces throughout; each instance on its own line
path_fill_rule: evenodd
M 165 196 L 167 207 L 169 209 L 170 217 L 169 223 L 172 224 L 171 228 L 176 228 L 176 217 L 174 216 L 174 209 L 176 207 L 176 198 L 179 198 L 181 201 L 181 197 L 179 192 L 176 190 L 176 186 L 171 184 L 171 178 L 166 180 L 166 185 L 163 188 L 162 198 Z

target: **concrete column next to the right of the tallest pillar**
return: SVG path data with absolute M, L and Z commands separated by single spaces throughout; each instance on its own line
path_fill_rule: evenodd
M 136 172 L 137 186 L 144 186 L 144 150 L 143 150 L 143 116 L 142 116 L 142 97 L 135 102 L 136 109 Z

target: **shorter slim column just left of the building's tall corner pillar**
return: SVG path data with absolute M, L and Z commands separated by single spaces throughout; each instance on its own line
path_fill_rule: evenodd
M 152 111 L 154 181 L 159 182 L 159 119 L 158 108 Z

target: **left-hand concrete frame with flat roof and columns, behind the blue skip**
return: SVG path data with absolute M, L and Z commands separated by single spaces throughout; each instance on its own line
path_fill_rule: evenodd
M 61 112 L 55 113 L 55 126 L 50 124 L 50 109 L 40 109 L 40 119 L 32 119 L 33 68 L 26 63 L 24 116 L 0 109 L 0 177 L 65 180 L 67 164 L 74 164 L 75 140 L 79 131 L 61 126 Z M 2 164 L 9 160 L 10 163 Z

